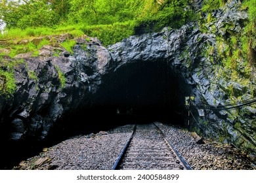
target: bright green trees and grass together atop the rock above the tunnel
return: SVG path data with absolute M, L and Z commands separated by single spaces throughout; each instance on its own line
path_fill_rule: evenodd
M 45 0 L 0 3 L 7 24 L 0 39 L 85 33 L 104 45 L 135 33 L 181 27 L 192 18 L 189 0 Z

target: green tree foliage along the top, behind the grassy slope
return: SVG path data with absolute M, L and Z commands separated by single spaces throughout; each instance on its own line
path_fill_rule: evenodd
M 166 0 L 163 1 L 164 5 L 157 2 L 156 0 L 2 0 L 0 15 L 7 28 L 53 26 L 64 22 L 106 25 L 152 17 L 159 11 L 164 11 L 165 7 L 172 7 L 174 11 L 175 8 L 183 8 L 187 0 Z M 180 6 L 181 2 L 182 6 Z

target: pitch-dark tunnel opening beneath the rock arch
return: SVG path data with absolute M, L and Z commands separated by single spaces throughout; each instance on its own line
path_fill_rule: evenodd
M 187 84 L 166 60 L 126 63 L 103 76 L 90 106 L 66 116 L 56 128 L 72 136 L 156 121 L 184 126 L 184 96 L 188 91 Z

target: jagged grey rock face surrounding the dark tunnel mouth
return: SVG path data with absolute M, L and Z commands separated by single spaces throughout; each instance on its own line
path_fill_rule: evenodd
M 74 54 L 58 48 L 62 56 L 54 57 L 52 51 L 56 49 L 44 46 L 37 58 L 22 56 L 22 61 L 21 58 L 5 58 L 20 62 L 13 69 L 15 92 L 0 98 L 1 138 L 5 141 L 41 141 L 56 121 L 77 108 L 91 105 L 91 98 L 104 82 L 103 76 L 112 75 L 130 63 L 165 61 L 169 71 L 186 85 L 181 86 L 184 87 L 181 94 L 195 97 L 192 113 L 197 122 L 193 122 L 191 129 L 195 127 L 207 137 L 255 151 L 255 104 L 238 108 L 235 112 L 207 109 L 203 118 L 197 114 L 200 107 L 247 100 L 256 91 L 255 75 L 247 86 L 219 76 L 224 66 L 219 63 L 221 58 L 215 52 L 216 35 L 225 35 L 227 29 L 224 26 L 230 21 L 234 24 L 230 29 L 240 32 L 243 29 L 241 22 L 247 18 L 245 12 L 238 11 L 235 2 L 218 10 L 215 22 L 207 25 L 209 30 L 215 27 L 215 33 L 203 33 L 197 23 L 190 23 L 180 29 L 165 28 L 160 33 L 135 35 L 107 48 L 96 38 L 88 41 L 80 37 L 75 39 Z M 7 69 L 4 65 L 0 67 Z M 228 98 L 226 88 L 230 87 L 236 99 Z

